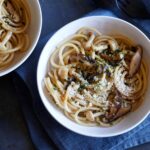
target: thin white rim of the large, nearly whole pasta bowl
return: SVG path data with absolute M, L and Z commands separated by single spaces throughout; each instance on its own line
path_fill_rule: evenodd
M 46 108 L 46 110 L 48 111 L 48 113 L 52 116 L 52 118 L 54 118 L 59 124 L 61 124 L 63 127 L 65 127 L 66 129 L 69 129 L 70 131 L 74 132 L 74 133 L 78 133 L 80 135 L 84 135 L 84 136 L 88 136 L 88 137 L 113 137 L 113 136 L 117 136 L 117 135 L 121 135 L 121 134 L 124 134 L 124 133 L 127 133 L 129 131 L 131 131 L 132 129 L 134 129 L 135 127 L 137 127 L 140 123 L 142 123 L 146 118 L 147 116 L 150 114 L 150 111 L 148 111 L 137 123 L 133 124 L 131 127 L 125 129 L 125 130 L 122 130 L 122 131 L 119 131 L 119 132 L 115 132 L 115 133 L 109 133 L 109 134 L 106 134 L 106 135 L 102 135 L 102 134 L 91 134 L 91 133 L 87 133 L 87 132 L 82 132 L 82 131 L 77 131 L 76 129 L 73 129 L 71 127 L 68 127 L 65 123 L 62 123 L 61 121 L 59 121 L 59 119 L 57 119 L 55 117 L 55 115 L 53 113 L 51 113 L 51 111 L 49 110 L 49 108 L 47 107 L 46 105 L 46 101 L 49 102 L 49 100 L 46 98 L 44 92 L 43 92 L 43 88 L 42 88 L 42 85 L 40 83 L 40 81 L 38 80 L 38 76 L 39 76 L 39 66 L 42 62 L 42 56 L 43 56 L 43 53 L 44 51 L 46 50 L 46 47 L 47 45 L 49 45 L 51 39 L 53 38 L 53 36 L 55 34 L 57 34 L 58 32 L 60 32 L 63 28 L 66 28 L 69 24 L 72 24 L 74 22 L 77 22 L 77 21 L 81 21 L 81 20 L 85 20 L 85 19 L 89 19 L 89 18 L 107 18 L 107 19 L 112 19 L 112 20 L 117 20 L 117 21 L 121 21 L 123 23 L 126 23 L 127 25 L 131 26 L 132 28 L 135 28 L 137 30 L 137 32 L 140 32 L 140 34 L 142 36 L 144 36 L 144 38 L 150 43 L 150 39 L 146 36 L 146 34 L 144 32 L 142 32 L 138 27 L 136 27 L 135 25 L 131 24 L 130 22 L 128 21 L 125 21 L 123 19 L 120 19 L 120 18 L 117 18 L 117 17 L 112 17 L 112 16 L 86 16 L 86 17 L 83 17 L 83 18 L 80 18 L 80 19 L 76 19 L 74 21 L 71 21 L 69 23 L 67 23 L 66 25 L 64 25 L 63 27 L 61 27 L 60 29 L 58 29 L 50 38 L 49 40 L 47 41 L 47 43 L 45 44 L 41 54 L 40 54 L 40 57 L 39 57 L 39 60 L 38 60 L 38 65 L 37 65 L 37 73 L 36 73 L 36 82 L 37 82 L 37 87 L 38 87 L 38 92 L 39 92 L 39 95 L 40 95 L 40 98 L 41 98 L 41 101 L 44 105 L 44 107 Z M 49 56 L 50 57 L 50 56 Z M 45 99 L 45 100 L 44 100 Z M 51 102 L 49 102 L 51 103 Z M 67 117 L 66 117 L 67 118 Z M 68 118 L 69 119 L 69 118 Z

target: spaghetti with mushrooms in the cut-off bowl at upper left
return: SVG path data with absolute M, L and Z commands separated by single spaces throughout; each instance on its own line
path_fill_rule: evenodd
M 16 52 L 27 50 L 29 23 L 25 0 L 0 0 L 0 69 L 12 62 Z

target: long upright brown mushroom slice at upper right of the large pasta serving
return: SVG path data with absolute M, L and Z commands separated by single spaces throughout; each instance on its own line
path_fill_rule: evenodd
M 139 70 L 142 60 L 143 50 L 141 46 L 136 47 L 136 53 L 131 59 L 129 67 L 129 76 L 133 77 Z

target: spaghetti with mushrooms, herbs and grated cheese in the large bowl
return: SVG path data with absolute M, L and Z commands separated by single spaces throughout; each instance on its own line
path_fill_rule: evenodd
M 65 115 L 81 125 L 117 124 L 141 104 L 147 87 L 144 60 L 129 76 L 135 48 L 125 36 L 81 28 L 52 53 L 46 89 Z

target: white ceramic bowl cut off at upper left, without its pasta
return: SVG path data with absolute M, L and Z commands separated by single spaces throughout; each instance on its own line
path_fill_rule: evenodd
M 17 67 L 19 67 L 25 60 L 31 55 L 33 52 L 38 39 L 40 37 L 41 29 L 42 29 L 42 13 L 41 8 L 38 0 L 26 0 L 31 14 L 31 22 L 28 29 L 29 34 L 29 41 L 30 45 L 27 49 L 27 51 L 23 53 L 17 53 L 15 54 L 14 60 L 11 62 L 11 64 L 6 67 L 3 70 L 0 70 L 0 77 L 3 75 L 6 75 L 13 70 L 15 70 Z

